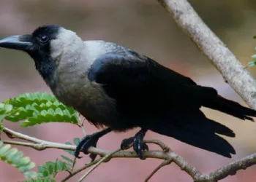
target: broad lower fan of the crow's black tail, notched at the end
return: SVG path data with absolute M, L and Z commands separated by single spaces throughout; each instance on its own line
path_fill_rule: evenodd
M 200 110 L 189 111 L 186 114 L 172 114 L 162 122 L 152 122 L 149 129 L 224 157 L 231 158 L 231 154 L 236 154 L 233 146 L 216 134 L 235 137 L 233 130 L 206 118 Z

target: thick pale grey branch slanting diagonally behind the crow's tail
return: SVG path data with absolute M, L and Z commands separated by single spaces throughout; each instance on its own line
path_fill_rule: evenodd
M 225 81 L 252 108 L 256 109 L 256 81 L 235 55 L 197 15 L 187 0 L 158 0 L 178 26 L 222 74 Z

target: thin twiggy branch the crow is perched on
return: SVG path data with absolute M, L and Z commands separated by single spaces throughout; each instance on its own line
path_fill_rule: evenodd
M 74 151 L 76 148 L 75 145 L 73 146 L 73 145 L 66 145 L 66 144 L 61 144 L 61 143 L 43 141 L 43 140 L 31 137 L 29 135 L 21 134 L 20 132 L 15 132 L 6 127 L 4 127 L 3 132 L 5 132 L 8 136 L 12 136 L 12 138 L 20 138 L 24 141 L 31 142 L 31 143 L 26 143 L 26 142 L 18 142 L 18 141 L 3 141 L 4 143 L 8 143 L 8 144 L 12 144 L 12 145 L 29 146 L 36 150 L 44 150 L 44 149 L 53 148 L 53 149 L 65 149 L 65 150 Z M 186 173 L 188 173 L 193 178 L 194 181 L 197 181 L 197 182 L 218 181 L 220 179 L 226 178 L 228 175 L 235 174 L 236 171 L 238 171 L 238 170 L 246 169 L 246 167 L 250 167 L 250 166 L 256 164 L 256 154 L 252 154 L 252 155 L 249 155 L 242 159 L 239 159 L 236 162 L 231 162 L 230 164 L 219 168 L 218 170 L 214 171 L 213 173 L 209 173 L 208 175 L 203 175 L 202 173 L 200 173 L 199 170 L 197 170 L 195 167 L 193 167 L 188 162 L 186 162 L 181 156 L 179 156 L 175 152 L 171 151 L 170 148 L 165 145 L 165 143 L 162 143 L 161 141 L 157 141 L 157 140 L 148 140 L 148 141 L 145 141 L 145 143 L 157 144 L 163 150 L 163 151 L 145 151 L 144 152 L 144 155 L 146 158 L 155 158 L 155 159 L 164 159 L 165 160 L 162 163 L 162 165 L 160 165 L 159 167 L 157 167 L 156 170 L 154 170 L 153 173 L 156 173 L 157 170 L 159 170 L 161 167 L 163 167 L 165 165 L 169 165 L 171 162 L 174 162 L 174 163 L 176 163 L 176 165 L 178 165 L 178 167 L 181 168 L 181 170 L 184 170 Z M 112 158 L 138 158 L 138 155 L 134 151 L 119 151 L 119 150 L 120 149 L 117 149 L 116 151 L 108 151 L 108 150 L 90 147 L 89 153 L 97 154 L 97 155 L 103 157 L 102 161 L 105 161 L 106 159 L 112 159 Z M 81 167 L 78 170 L 75 170 L 73 173 L 68 175 L 62 181 L 67 181 L 69 178 L 72 178 L 72 176 L 76 175 L 77 173 L 80 173 L 81 171 L 85 170 L 86 168 L 90 167 L 91 165 L 97 164 L 97 162 L 99 162 L 100 160 L 101 159 L 97 159 L 94 162 L 91 162 L 88 165 Z M 148 177 L 148 178 L 150 178 L 150 177 Z

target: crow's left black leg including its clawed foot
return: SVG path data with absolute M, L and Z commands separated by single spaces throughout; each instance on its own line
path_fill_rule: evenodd
M 82 149 L 83 151 L 83 154 L 89 154 L 88 152 L 88 149 L 90 146 L 94 146 L 96 147 L 97 146 L 97 142 L 99 140 L 99 138 L 101 138 L 103 135 L 106 135 L 108 134 L 108 132 L 111 132 L 112 129 L 109 127 L 105 130 L 102 130 L 102 131 L 99 131 L 99 132 L 95 132 L 94 134 L 91 134 L 91 135 L 86 135 L 86 137 L 84 137 L 80 143 L 78 143 L 78 146 L 77 148 L 75 149 L 75 157 L 77 158 L 81 158 L 79 156 L 79 153 L 80 153 L 80 150 Z M 91 157 L 91 162 L 94 161 L 94 159 L 97 157 L 97 155 L 95 154 L 90 154 L 90 157 Z

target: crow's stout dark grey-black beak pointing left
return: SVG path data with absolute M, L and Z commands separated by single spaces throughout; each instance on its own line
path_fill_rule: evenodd
M 31 35 L 8 36 L 0 40 L 0 47 L 27 51 L 33 46 Z

